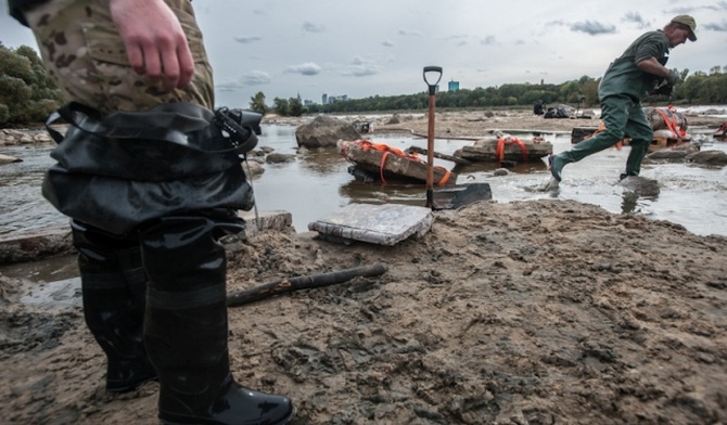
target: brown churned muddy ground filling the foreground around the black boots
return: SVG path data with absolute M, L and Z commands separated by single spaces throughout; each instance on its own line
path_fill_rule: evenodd
M 294 424 L 727 423 L 726 237 L 567 201 L 435 215 L 393 247 L 266 231 L 230 252 L 230 292 L 388 266 L 231 307 L 235 377 Z M 3 423 L 157 423 L 156 383 L 105 392 L 78 301 L 1 282 Z

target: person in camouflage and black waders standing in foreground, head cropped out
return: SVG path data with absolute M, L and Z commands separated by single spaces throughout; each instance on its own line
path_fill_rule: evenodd
M 107 390 L 158 378 L 165 423 L 288 423 L 288 398 L 241 387 L 229 369 L 218 239 L 243 230 L 235 210 L 252 208 L 240 154 L 255 136 L 240 147 L 219 129 L 190 0 L 9 7 L 72 102 L 43 195 L 72 218 Z

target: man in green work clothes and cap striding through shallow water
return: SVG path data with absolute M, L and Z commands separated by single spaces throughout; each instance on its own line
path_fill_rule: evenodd
M 548 157 L 550 172 L 557 181 L 561 181 L 565 165 L 611 147 L 626 134 L 632 150 L 621 179 L 639 175 L 641 160 L 653 139 L 653 130 L 640 102 L 654 94 L 655 89 L 659 94 L 671 94 L 674 86 L 681 81 L 679 74 L 665 67 L 668 52 L 687 40 L 697 41 L 696 29 L 693 17 L 675 16 L 663 29 L 641 35 L 609 65 L 598 87 L 605 130 L 570 151 Z

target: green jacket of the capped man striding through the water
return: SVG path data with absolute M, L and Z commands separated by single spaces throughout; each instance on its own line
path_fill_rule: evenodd
M 668 38 L 661 29 L 637 38 L 621 57 L 609 65 L 598 87 L 599 100 L 614 94 L 626 94 L 638 101 L 646 98 L 663 78 L 645 73 L 636 64 L 655 57 L 662 65 L 666 65 L 668 49 Z

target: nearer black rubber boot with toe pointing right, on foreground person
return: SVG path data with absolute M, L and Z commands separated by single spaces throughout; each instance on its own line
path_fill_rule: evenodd
M 226 257 L 215 221 L 173 217 L 142 234 L 150 278 L 144 340 L 160 374 L 165 424 L 286 424 L 293 403 L 230 374 Z M 219 234 L 218 234 L 219 232 Z

